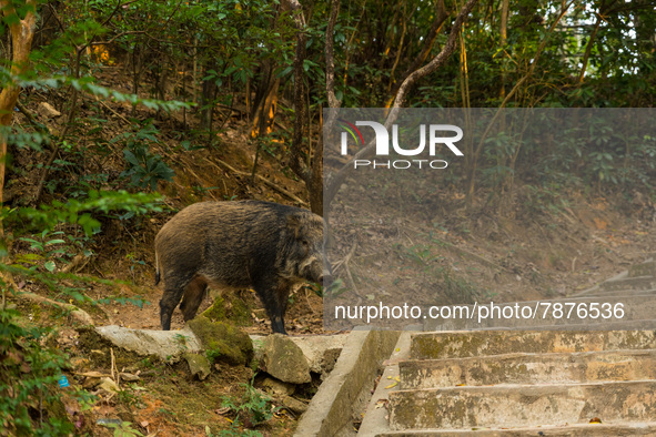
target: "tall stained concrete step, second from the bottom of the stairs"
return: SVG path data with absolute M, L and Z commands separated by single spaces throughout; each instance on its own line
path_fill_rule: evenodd
M 649 421 L 656 380 L 503 385 L 398 390 L 390 394 L 390 428 L 430 429 Z

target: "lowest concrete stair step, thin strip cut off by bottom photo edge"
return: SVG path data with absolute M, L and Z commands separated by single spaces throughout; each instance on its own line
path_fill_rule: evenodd
M 524 436 L 553 436 L 553 437 L 569 437 L 569 436 L 592 436 L 592 437 L 608 437 L 608 436 L 654 436 L 656 434 L 656 423 L 639 423 L 639 424 L 574 424 L 562 426 L 532 426 L 511 429 L 417 429 L 417 430 L 400 430 L 379 434 L 379 437 L 461 437 L 464 435 L 474 434 L 481 437 L 524 437 Z

